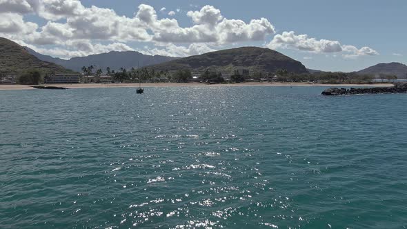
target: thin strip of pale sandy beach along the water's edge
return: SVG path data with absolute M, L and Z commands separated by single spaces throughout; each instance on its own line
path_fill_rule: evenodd
M 41 86 L 57 86 L 68 89 L 78 88 L 138 88 L 139 83 L 55 83 L 41 84 Z M 143 83 L 143 88 L 150 87 L 239 87 L 239 86 L 308 86 L 308 87 L 393 87 L 392 83 L 373 83 L 373 84 L 323 84 L 323 83 L 230 83 L 230 84 L 206 84 L 206 83 Z M 12 84 L 1 85 L 0 90 L 34 90 L 30 85 Z

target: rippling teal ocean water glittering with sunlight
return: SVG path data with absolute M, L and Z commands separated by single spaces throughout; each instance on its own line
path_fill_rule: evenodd
M 0 91 L 0 228 L 406 228 L 407 94 Z

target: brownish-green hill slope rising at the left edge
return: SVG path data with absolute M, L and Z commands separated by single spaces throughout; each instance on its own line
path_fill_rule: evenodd
M 73 73 L 55 63 L 41 61 L 27 52 L 14 41 L 0 37 L 0 72 L 14 74 L 28 69 L 38 69 L 41 72 Z

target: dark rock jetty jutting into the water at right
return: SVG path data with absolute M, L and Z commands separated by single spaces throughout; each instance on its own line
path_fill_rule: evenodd
M 384 93 L 406 93 L 407 82 L 394 83 L 394 87 L 378 88 L 328 88 L 323 95 L 349 95 L 349 94 L 384 94 Z

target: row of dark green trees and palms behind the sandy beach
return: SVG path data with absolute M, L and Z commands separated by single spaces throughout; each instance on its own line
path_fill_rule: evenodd
M 83 75 L 94 75 L 96 77 L 103 74 L 101 69 L 94 72 L 94 66 L 83 66 Z M 171 82 L 188 82 L 192 79 L 192 73 L 189 69 L 181 69 L 169 72 L 168 70 L 155 70 L 153 68 L 131 68 L 126 70 L 120 68 L 119 70 L 110 70 L 106 68 L 107 75 L 112 76 L 115 81 L 119 82 L 155 82 L 155 81 L 171 81 Z M 295 72 L 288 72 L 286 69 L 279 69 L 275 72 L 252 72 L 250 75 L 240 74 L 238 70 L 230 76 L 228 82 L 240 83 L 248 80 L 255 81 L 276 81 L 276 82 L 314 82 L 314 83 L 373 83 L 375 77 L 370 74 L 357 74 L 355 72 L 315 72 L 298 74 Z M 397 77 L 394 75 L 380 75 L 380 79 L 388 81 L 395 81 Z M 199 77 L 198 81 L 203 83 L 226 83 L 221 72 L 205 70 Z

